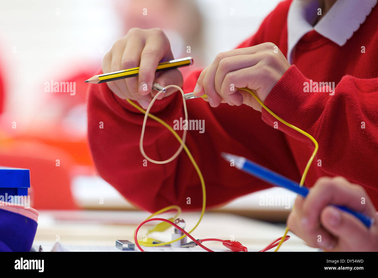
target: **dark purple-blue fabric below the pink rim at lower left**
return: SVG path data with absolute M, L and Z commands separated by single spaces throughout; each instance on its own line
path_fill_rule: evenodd
M 0 251 L 29 252 L 37 222 L 21 214 L 0 209 Z

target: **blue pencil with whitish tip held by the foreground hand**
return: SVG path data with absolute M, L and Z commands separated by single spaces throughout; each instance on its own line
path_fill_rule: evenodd
M 271 171 L 257 163 L 252 162 L 251 160 L 246 159 L 245 157 L 233 155 L 233 154 L 221 154 L 223 158 L 227 161 L 234 160 L 235 167 L 240 169 L 244 172 L 247 172 L 250 175 L 253 175 L 261 180 L 265 180 L 272 185 L 283 187 L 289 189 L 303 197 L 306 197 L 308 194 L 308 188 L 305 186 L 300 186 L 299 183 L 294 182 L 293 180 L 288 179 L 274 171 Z M 342 211 L 346 211 L 347 213 L 353 214 L 359 220 L 361 220 L 366 227 L 370 228 L 370 226 L 374 223 L 374 219 L 366 216 L 363 213 L 359 213 L 358 211 L 351 210 L 349 208 L 334 205 L 335 207 L 339 208 Z

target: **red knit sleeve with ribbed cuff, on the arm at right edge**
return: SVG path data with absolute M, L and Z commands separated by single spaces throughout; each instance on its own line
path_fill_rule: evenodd
M 359 79 L 346 75 L 333 92 L 327 87 L 320 88 L 318 92 L 307 92 L 304 88 L 308 84 L 311 81 L 292 65 L 264 103 L 278 116 L 318 141 L 316 160 L 321 159 L 325 172 L 376 188 L 378 78 Z M 270 125 L 277 121 L 265 109 L 262 118 Z M 278 129 L 311 144 L 307 137 L 290 127 L 279 123 Z

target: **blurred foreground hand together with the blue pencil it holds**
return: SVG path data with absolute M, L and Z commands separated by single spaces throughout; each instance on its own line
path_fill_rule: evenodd
M 378 214 L 362 186 L 322 177 L 309 190 L 245 157 L 222 153 L 235 168 L 298 194 L 287 227 L 326 251 L 378 251 Z

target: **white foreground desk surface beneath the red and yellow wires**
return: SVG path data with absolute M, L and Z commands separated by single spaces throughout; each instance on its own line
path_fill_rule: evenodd
M 114 246 L 117 239 L 128 239 L 133 242 L 133 232 L 136 226 L 149 215 L 142 211 L 90 210 L 41 210 L 39 213 L 33 246 L 37 244 L 52 245 L 58 238 L 62 245 Z M 187 224 L 186 230 L 195 225 L 199 216 L 200 213 L 181 214 Z M 142 238 L 147 229 L 152 227 L 148 225 L 150 223 L 141 228 L 138 238 Z M 241 242 L 248 250 L 256 251 L 282 236 L 284 230 L 284 225 L 270 224 L 228 213 L 206 212 L 192 236 L 197 239 L 232 239 Z M 173 228 L 169 232 L 155 233 L 149 236 L 168 241 L 171 233 L 173 233 Z M 289 235 L 291 238 L 282 245 L 280 251 L 318 251 L 318 249 L 305 245 L 292 233 L 289 232 Z M 215 249 L 223 248 L 220 242 L 206 242 L 205 246 Z

